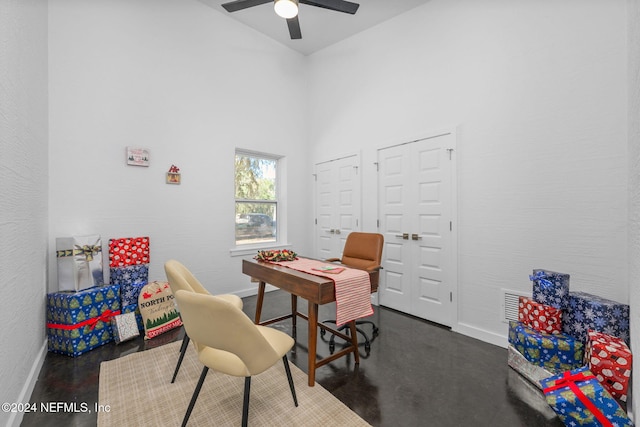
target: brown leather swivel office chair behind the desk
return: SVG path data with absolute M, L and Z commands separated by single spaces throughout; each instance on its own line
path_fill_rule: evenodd
M 326 261 L 340 262 L 348 267 L 359 268 L 366 271 L 378 271 L 382 269 L 382 248 L 384 246 L 384 236 L 379 233 L 363 233 L 351 232 L 347 236 L 344 244 L 342 258 L 329 258 Z M 335 319 L 324 320 L 322 323 L 336 323 Z M 371 339 L 357 325 L 369 324 L 372 327 Z M 347 325 L 341 326 L 338 331 L 345 330 Z M 371 342 L 378 336 L 379 329 L 376 324 L 370 320 L 356 320 L 356 331 L 363 337 L 364 349 L 367 353 L 371 350 Z M 320 328 L 320 336 L 324 336 L 324 329 Z M 360 340 L 359 340 L 360 341 Z M 329 349 L 331 352 L 335 349 L 335 335 L 331 335 L 329 340 Z

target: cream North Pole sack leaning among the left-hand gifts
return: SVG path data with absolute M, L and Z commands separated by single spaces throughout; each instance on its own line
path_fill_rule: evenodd
M 151 282 L 140 290 L 138 307 L 144 321 L 144 338 L 151 339 L 180 327 L 180 313 L 169 282 Z

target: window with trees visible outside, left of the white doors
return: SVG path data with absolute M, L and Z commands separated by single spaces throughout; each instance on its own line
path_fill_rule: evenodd
M 236 152 L 236 245 L 278 240 L 278 159 Z

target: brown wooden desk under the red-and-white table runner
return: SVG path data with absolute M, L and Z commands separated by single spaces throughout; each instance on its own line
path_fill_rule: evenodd
M 356 334 L 355 321 L 350 322 L 349 329 L 351 336 L 346 336 L 337 330 L 330 328 L 322 323 L 318 323 L 318 306 L 327 304 L 336 300 L 336 292 L 333 280 L 326 277 L 314 276 L 313 274 L 303 273 L 291 268 L 282 267 L 266 262 L 259 262 L 254 259 L 242 260 L 242 272 L 247 276 L 251 276 L 259 281 L 258 285 L 258 301 L 256 305 L 255 323 L 257 325 L 269 325 L 271 323 L 280 322 L 286 319 L 292 319 L 293 334 L 295 338 L 296 318 L 302 317 L 308 321 L 309 327 L 309 386 L 313 387 L 316 380 L 316 369 L 326 365 L 327 363 L 353 353 L 355 362 L 360 363 L 360 353 L 358 352 L 358 337 Z M 378 290 L 378 272 L 370 272 L 371 276 L 371 292 Z M 276 317 L 273 319 L 260 321 L 262 313 L 262 302 L 264 301 L 264 291 L 266 284 L 276 286 L 291 294 L 291 313 Z M 298 297 L 307 300 L 309 309 L 308 315 L 298 312 Z M 316 360 L 316 350 L 318 344 L 318 327 L 329 331 L 340 338 L 350 341 L 349 347 L 325 357 Z

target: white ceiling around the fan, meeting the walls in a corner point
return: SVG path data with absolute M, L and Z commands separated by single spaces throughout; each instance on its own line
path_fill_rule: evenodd
M 287 22 L 266 3 L 229 13 L 221 6 L 232 0 L 198 0 L 304 55 L 310 55 L 352 35 L 407 12 L 429 0 L 350 0 L 360 4 L 355 15 L 301 4 L 301 40 L 291 40 Z

